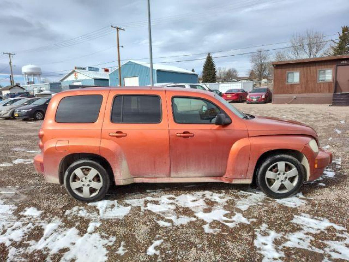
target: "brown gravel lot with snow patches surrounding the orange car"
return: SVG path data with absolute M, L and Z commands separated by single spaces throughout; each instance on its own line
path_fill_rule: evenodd
M 349 260 L 349 108 L 235 105 L 312 126 L 334 162 L 283 200 L 246 185 L 131 184 L 84 204 L 35 172 L 41 122 L 0 120 L 0 261 Z

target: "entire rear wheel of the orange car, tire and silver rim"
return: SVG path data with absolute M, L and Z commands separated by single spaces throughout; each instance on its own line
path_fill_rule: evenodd
M 109 190 L 110 179 L 101 164 L 82 159 L 68 167 L 64 176 L 64 185 L 76 200 L 95 202 L 101 200 Z

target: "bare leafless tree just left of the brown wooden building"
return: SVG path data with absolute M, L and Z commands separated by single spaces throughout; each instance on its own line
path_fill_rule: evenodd
M 251 54 L 250 62 L 252 70 L 258 81 L 269 77 L 270 69 L 270 54 L 262 49 L 257 50 L 256 53 Z

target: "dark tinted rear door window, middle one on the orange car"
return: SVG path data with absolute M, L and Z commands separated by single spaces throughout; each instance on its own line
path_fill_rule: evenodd
M 161 101 L 155 95 L 118 95 L 111 112 L 112 123 L 156 124 L 161 122 Z

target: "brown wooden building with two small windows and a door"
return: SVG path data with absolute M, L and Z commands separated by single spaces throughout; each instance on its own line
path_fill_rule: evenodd
M 272 64 L 273 103 L 349 105 L 349 55 Z

